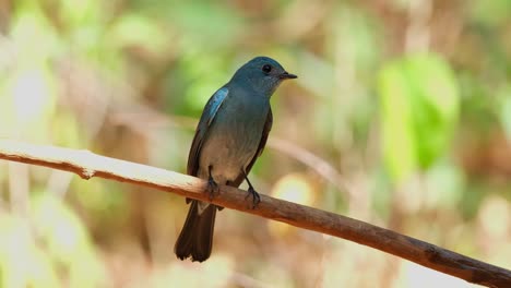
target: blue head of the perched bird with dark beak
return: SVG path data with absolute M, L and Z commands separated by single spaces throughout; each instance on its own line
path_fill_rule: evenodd
M 250 85 L 270 97 L 284 80 L 296 77 L 272 58 L 255 57 L 236 71 L 233 81 Z

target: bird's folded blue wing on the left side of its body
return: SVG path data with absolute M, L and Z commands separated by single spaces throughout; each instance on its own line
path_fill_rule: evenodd
M 190 154 L 188 155 L 188 166 L 187 173 L 191 176 L 197 176 L 199 171 L 199 159 L 201 154 L 201 147 L 204 139 L 207 135 L 209 128 L 213 120 L 215 119 L 216 112 L 227 97 L 229 89 L 227 87 L 222 87 L 207 100 L 204 111 L 202 112 L 201 120 L 195 130 L 195 135 L 193 136 L 193 142 L 190 148 Z

